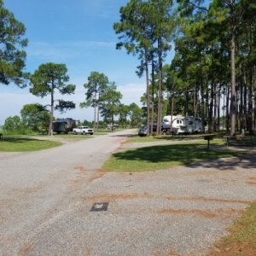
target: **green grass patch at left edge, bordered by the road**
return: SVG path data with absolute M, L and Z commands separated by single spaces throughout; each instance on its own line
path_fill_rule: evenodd
M 34 151 L 60 146 L 62 143 L 38 140 L 27 137 L 3 137 L 0 140 L 0 151 L 5 152 L 22 152 Z

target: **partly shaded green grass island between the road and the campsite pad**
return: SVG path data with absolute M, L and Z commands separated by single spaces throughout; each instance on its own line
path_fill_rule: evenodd
M 207 149 L 207 141 L 131 149 L 113 154 L 103 169 L 108 172 L 147 172 L 241 154 L 212 147 L 221 143 L 222 140 L 213 140 L 210 149 Z

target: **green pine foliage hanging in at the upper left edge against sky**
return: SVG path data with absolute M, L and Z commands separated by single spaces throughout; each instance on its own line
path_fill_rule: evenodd
M 20 87 L 26 86 L 25 67 L 27 40 L 24 38 L 25 26 L 15 16 L 4 9 L 0 0 L 0 83 L 14 82 Z

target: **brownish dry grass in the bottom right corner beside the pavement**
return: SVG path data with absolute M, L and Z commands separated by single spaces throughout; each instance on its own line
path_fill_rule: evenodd
M 229 228 L 229 235 L 217 242 L 208 256 L 256 255 L 256 202 L 237 218 Z

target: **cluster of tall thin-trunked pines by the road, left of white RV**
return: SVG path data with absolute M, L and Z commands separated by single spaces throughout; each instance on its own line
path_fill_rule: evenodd
M 131 0 L 120 10 L 120 21 L 114 23 L 113 29 L 119 34 L 117 49 L 124 47 L 127 53 L 138 55 L 140 66 L 137 75 L 142 77 L 146 73 L 147 84 L 147 119 L 149 121 L 150 104 L 154 105 L 154 79 L 158 72 L 158 127 L 160 127 L 160 116 L 162 111 L 162 62 L 166 53 L 171 49 L 171 37 L 175 30 L 176 22 L 172 14 L 171 0 Z M 157 61 L 156 61 L 157 60 Z M 151 91 L 149 88 L 149 63 L 152 65 Z M 150 91 L 150 96 L 149 96 Z M 151 97 L 151 99 L 150 99 Z M 152 113 L 154 115 L 154 113 Z

